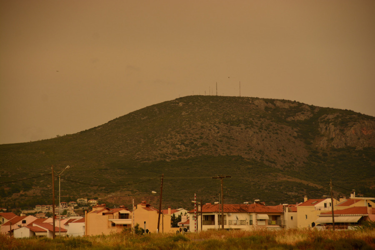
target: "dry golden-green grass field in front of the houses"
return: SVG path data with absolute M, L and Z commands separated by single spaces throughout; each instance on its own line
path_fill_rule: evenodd
M 76 238 L 15 239 L 0 236 L 0 249 L 104 249 L 104 250 L 236 250 L 236 249 L 375 249 L 375 230 L 318 231 L 205 231 L 196 234 L 120 234 Z

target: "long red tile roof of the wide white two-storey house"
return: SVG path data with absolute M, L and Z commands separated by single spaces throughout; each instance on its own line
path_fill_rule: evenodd
M 203 213 L 218 213 L 221 211 L 219 204 L 205 204 L 202 206 Z M 199 211 L 200 212 L 200 211 Z M 190 210 L 189 213 L 194 213 Z M 261 204 L 224 204 L 224 213 L 282 213 L 272 207 L 267 207 Z

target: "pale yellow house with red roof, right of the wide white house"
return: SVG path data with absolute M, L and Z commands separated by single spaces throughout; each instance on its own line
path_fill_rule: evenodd
M 313 222 L 318 219 L 319 214 L 332 211 L 331 198 L 308 199 L 304 197 L 304 202 L 297 206 L 297 227 L 309 228 L 314 226 Z M 333 199 L 333 206 L 339 201 Z

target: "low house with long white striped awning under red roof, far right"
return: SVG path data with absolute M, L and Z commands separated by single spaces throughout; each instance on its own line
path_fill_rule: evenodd
M 375 208 L 372 207 L 350 207 L 334 210 L 335 229 L 354 229 L 361 226 L 363 222 L 375 221 Z M 315 220 L 317 228 L 332 229 L 332 212 L 321 213 Z

